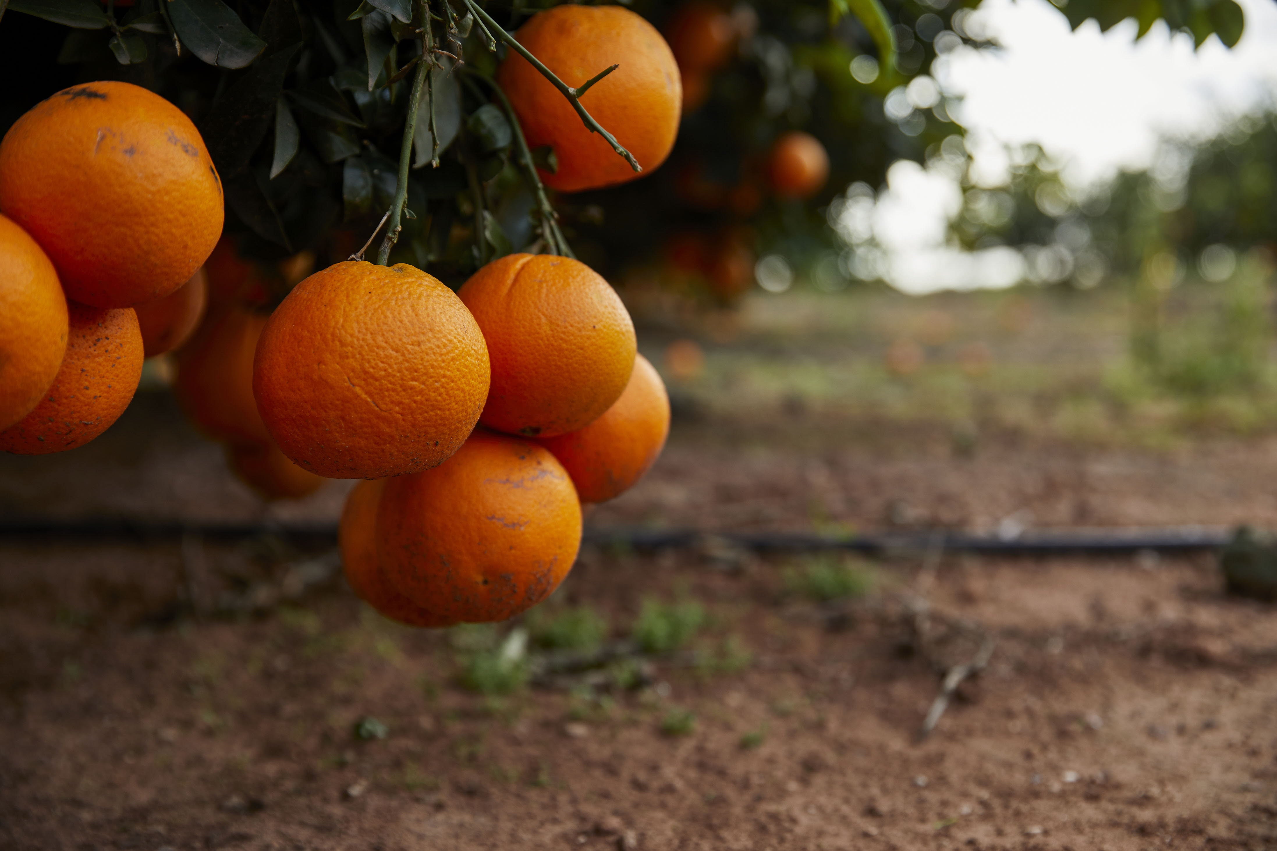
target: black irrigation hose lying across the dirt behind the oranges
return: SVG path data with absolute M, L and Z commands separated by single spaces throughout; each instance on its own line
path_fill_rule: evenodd
M 140 538 L 146 541 L 198 535 L 207 538 L 246 538 L 257 535 L 335 541 L 337 524 L 323 521 L 285 522 L 181 522 L 133 521 L 126 518 L 47 519 L 0 518 L 0 540 Z M 645 531 L 632 528 L 587 528 L 585 541 L 633 549 L 743 547 L 747 550 L 849 550 L 866 554 L 894 551 L 985 552 L 997 555 L 1121 555 L 1139 551 L 1193 552 L 1217 550 L 1232 538 L 1220 527 L 1177 526 L 1137 529 L 1028 531 L 1016 536 L 965 535 L 946 531 L 913 531 L 867 535 L 820 535 L 812 532 L 700 532 L 696 529 Z

